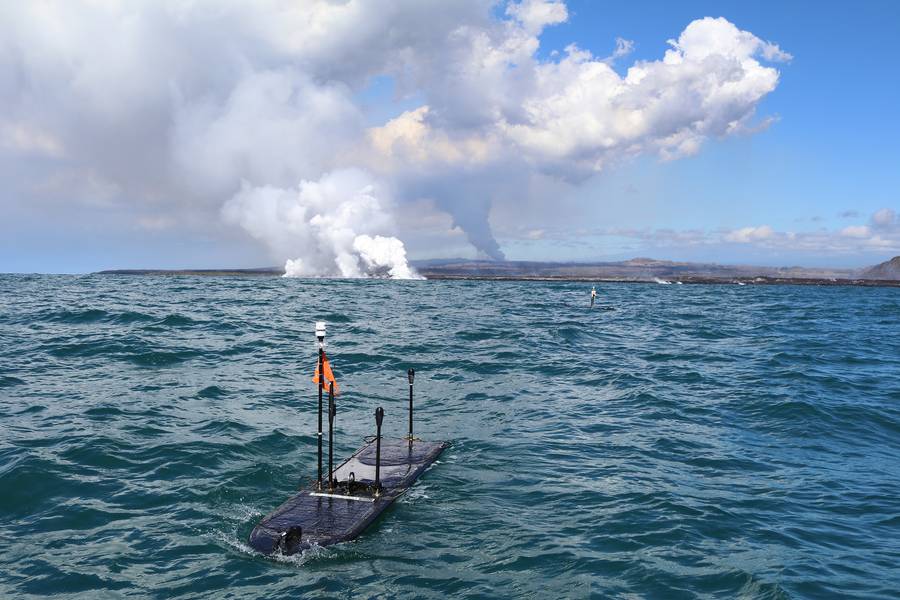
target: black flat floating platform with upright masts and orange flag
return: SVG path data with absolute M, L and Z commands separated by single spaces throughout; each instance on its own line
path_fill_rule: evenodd
M 322 470 L 322 393 L 325 389 L 325 324 L 316 323 L 319 342 L 318 478 L 260 520 L 250 533 L 250 546 L 263 554 L 296 554 L 313 545 L 352 540 L 419 478 L 445 442 L 413 437 L 413 377 L 409 379 L 409 432 L 402 439 L 382 439 L 384 409 L 375 410 L 375 436 L 333 468 L 334 419 L 337 414 L 333 378 L 328 385 L 328 482 Z

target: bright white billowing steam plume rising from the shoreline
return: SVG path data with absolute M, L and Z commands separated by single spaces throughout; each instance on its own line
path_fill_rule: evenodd
M 286 277 L 419 277 L 406 261 L 403 242 L 377 235 L 393 221 L 376 184 L 360 170 L 327 173 L 296 189 L 245 182 L 223 215 L 274 256 L 293 257 L 285 263 Z

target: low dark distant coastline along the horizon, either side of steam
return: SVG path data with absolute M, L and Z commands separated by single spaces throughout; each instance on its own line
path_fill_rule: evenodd
M 488 281 L 585 281 L 735 285 L 855 285 L 900 287 L 900 257 L 866 269 L 756 267 L 649 258 L 619 262 L 537 262 L 439 259 L 415 261 L 427 279 Z M 280 277 L 279 267 L 257 269 L 113 269 L 100 275 Z

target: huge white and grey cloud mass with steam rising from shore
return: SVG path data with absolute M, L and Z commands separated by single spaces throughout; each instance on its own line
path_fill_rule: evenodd
M 541 33 L 570 17 L 563 2 L 502 7 L 8 3 L 0 160 L 33 167 L 36 195 L 128 205 L 148 226 L 224 217 L 291 274 L 410 277 L 402 207 L 427 201 L 479 253 L 502 257 L 493 203 L 536 177 L 577 184 L 639 155 L 674 160 L 753 133 L 778 85 L 771 63 L 790 58 L 703 18 L 620 75 L 627 40 L 610 57 L 570 45 L 539 58 Z M 384 78 L 416 106 L 372 123 L 366 94 Z

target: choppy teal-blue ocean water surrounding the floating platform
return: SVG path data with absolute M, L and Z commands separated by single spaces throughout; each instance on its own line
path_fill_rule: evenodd
M 900 290 L 0 276 L 0 597 L 897 598 Z M 255 555 L 336 457 L 452 447 Z

